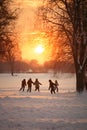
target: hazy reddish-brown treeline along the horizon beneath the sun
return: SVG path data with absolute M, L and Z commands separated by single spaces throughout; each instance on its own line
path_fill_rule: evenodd
M 68 62 L 57 62 L 48 61 L 43 65 L 40 65 L 36 60 L 30 62 L 25 61 L 15 61 L 13 66 L 14 73 L 47 73 L 47 72 L 70 72 L 74 73 L 73 63 Z M 11 68 L 8 62 L 0 62 L 0 73 L 11 73 Z

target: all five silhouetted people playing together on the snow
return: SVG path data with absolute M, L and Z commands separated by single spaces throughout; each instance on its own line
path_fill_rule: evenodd
M 26 82 L 26 79 L 23 79 L 21 82 L 21 88 L 19 91 L 24 91 L 26 85 L 28 85 L 27 92 L 32 91 L 32 85 L 35 85 L 35 91 L 39 92 L 40 85 L 42 85 L 42 83 L 39 82 L 38 78 L 36 78 L 34 82 L 32 81 L 31 78 L 27 82 Z M 55 82 L 53 82 L 52 80 L 49 80 L 48 90 L 50 90 L 51 94 L 55 93 L 56 91 L 58 92 L 58 86 L 59 86 L 59 83 L 57 80 L 55 80 Z

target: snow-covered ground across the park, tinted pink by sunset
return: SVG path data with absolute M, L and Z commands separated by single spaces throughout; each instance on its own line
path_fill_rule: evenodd
M 23 78 L 38 78 L 40 92 L 20 92 Z M 58 93 L 49 79 L 59 81 Z M 87 130 L 87 92 L 76 93 L 75 82 L 74 74 L 0 74 L 0 130 Z

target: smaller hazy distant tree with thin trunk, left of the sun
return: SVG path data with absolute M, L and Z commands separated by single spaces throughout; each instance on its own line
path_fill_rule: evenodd
M 8 37 L 9 45 L 6 47 L 4 59 L 7 60 L 10 66 L 11 75 L 15 71 L 15 61 L 21 59 L 20 49 L 17 43 L 17 37 L 15 35 Z

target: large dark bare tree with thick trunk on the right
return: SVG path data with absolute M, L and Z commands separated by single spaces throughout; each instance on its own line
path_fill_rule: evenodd
M 43 20 L 61 33 L 65 45 L 71 48 L 75 72 L 76 90 L 85 87 L 87 66 L 87 1 L 86 0 L 44 0 L 40 8 Z M 68 50 L 67 50 L 68 51 Z

